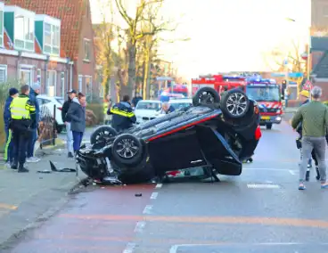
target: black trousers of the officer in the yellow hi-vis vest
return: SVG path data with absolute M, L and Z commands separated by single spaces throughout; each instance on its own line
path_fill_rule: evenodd
M 13 164 L 23 166 L 26 161 L 26 152 L 28 151 L 29 135 L 28 130 L 14 129 L 12 133 L 13 149 Z

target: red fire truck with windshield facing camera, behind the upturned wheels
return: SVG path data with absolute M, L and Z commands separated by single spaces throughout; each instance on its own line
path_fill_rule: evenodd
M 257 75 L 250 77 L 213 75 L 192 79 L 193 94 L 203 86 L 214 88 L 218 94 L 221 94 L 225 88 L 229 90 L 239 87 L 250 99 L 258 102 L 260 126 L 271 129 L 273 124 L 282 122 L 281 86 L 277 85 L 274 79 L 263 79 Z

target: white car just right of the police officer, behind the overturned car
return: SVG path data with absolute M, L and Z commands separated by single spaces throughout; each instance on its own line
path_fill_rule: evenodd
M 143 122 L 157 118 L 160 114 L 161 102 L 158 100 L 142 100 L 138 102 L 135 107 L 136 123 Z

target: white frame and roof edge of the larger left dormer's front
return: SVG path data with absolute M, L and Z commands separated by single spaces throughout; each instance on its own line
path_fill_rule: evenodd
M 13 12 L 13 44 L 14 44 L 14 48 L 16 50 L 24 50 L 24 51 L 29 51 L 29 52 L 35 52 L 35 36 L 36 36 L 36 29 L 35 29 L 35 17 L 36 17 L 36 13 L 35 12 L 30 12 L 29 10 L 26 9 L 22 9 L 19 6 L 4 6 L 4 12 Z M 23 47 L 17 46 L 15 45 L 15 41 L 16 41 L 16 27 L 15 27 L 15 20 L 17 16 L 23 16 L 24 17 L 24 38 L 21 39 L 19 38 L 19 40 L 21 40 L 24 43 Z M 29 19 L 30 22 L 30 27 L 29 29 L 33 29 L 33 38 L 32 40 L 29 40 L 26 38 L 26 34 L 25 34 L 25 21 Z M 26 44 L 27 43 L 33 43 L 33 47 L 31 49 L 26 48 Z

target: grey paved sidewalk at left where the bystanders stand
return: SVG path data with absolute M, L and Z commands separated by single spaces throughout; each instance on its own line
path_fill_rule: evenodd
M 19 174 L 0 164 L 0 251 L 4 242 L 61 208 L 69 199 L 70 189 L 78 184 L 75 172 L 37 173 L 50 169 L 49 160 L 58 168 L 75 168 L 66 150 L 45 149 L 39 153 L 43 156 L 39 162 L 28 164 L 29 173 Z

